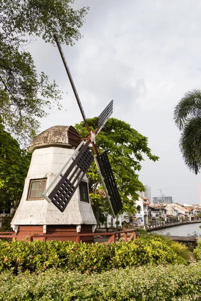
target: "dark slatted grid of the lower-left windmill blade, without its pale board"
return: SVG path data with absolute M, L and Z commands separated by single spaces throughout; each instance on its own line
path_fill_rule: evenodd
M 88 145 L 85 144 L 49 194 L 48 198 L 61 212 L 65 210 L 92 161 L 93 156 L 88 149 Z

